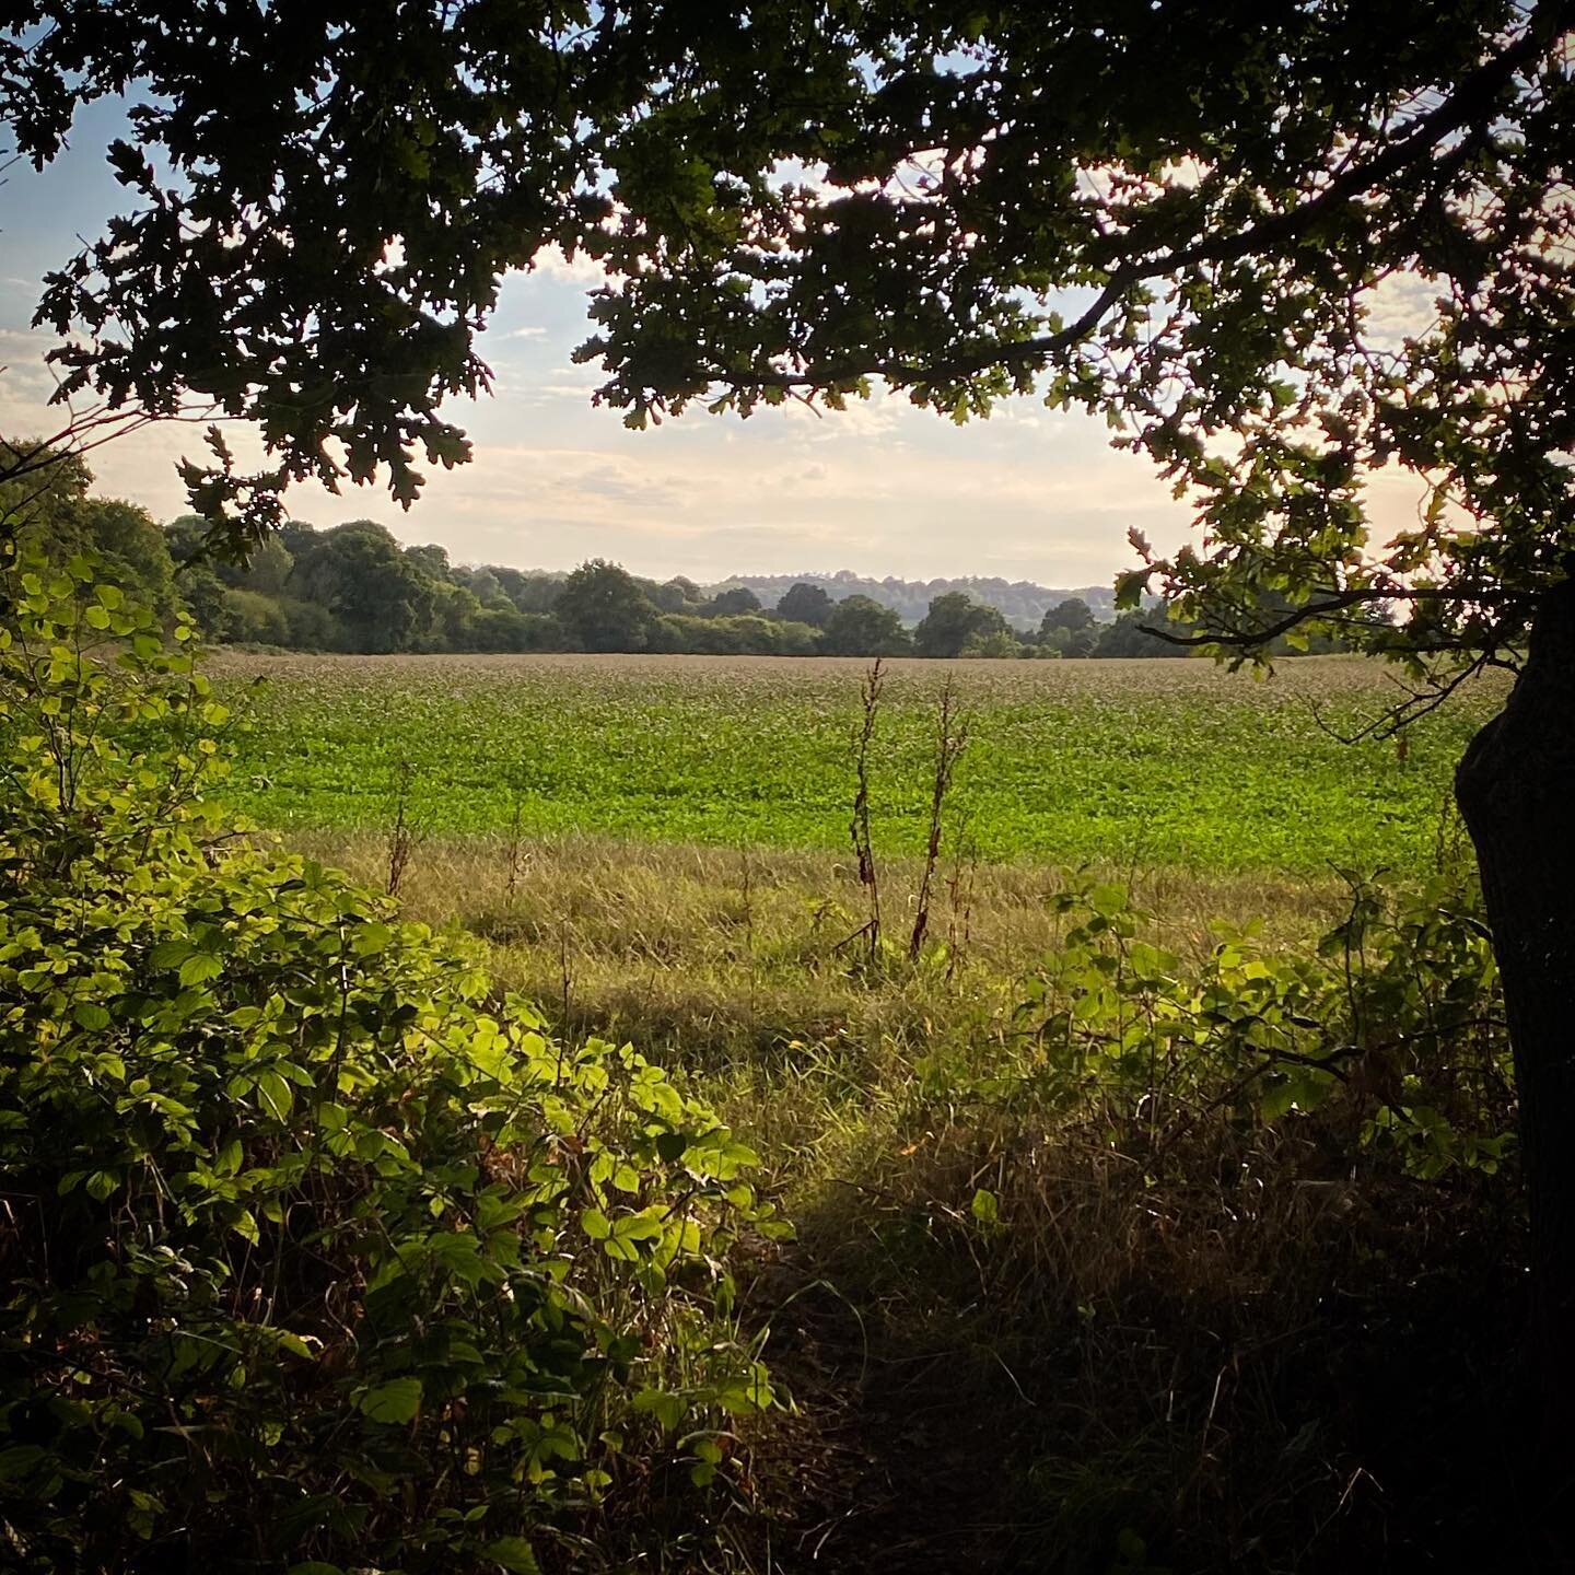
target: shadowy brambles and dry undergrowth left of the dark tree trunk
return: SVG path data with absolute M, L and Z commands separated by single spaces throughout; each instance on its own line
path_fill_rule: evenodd
M 1058 906 L 1017 1035 L 888 1080 L 879 1136 L 756 1287 L 797 1298 L 776 1359 L 824 1422 L 803 1547 L 879 1570 L 1558 1567 L 1529 1529 L 1471 882 L 1356 882 L 1321 947 L 1222 929 L 1199 964 L 1140 939 L 1118 887 Z M 882 1435 L 907 1444 L 860 1452 Z

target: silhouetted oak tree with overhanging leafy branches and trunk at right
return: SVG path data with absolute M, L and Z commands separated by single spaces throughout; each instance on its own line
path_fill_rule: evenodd
M 1545 1391 L 1575 1397 L 1570 0 L 1463 0 L 1443 25 L 1433 0 L 776 0 L 706 28 L 652 0 L 638 24 L 528 9 L 506 46 L 488 16 L 30 0 L 0 63 L 25 156 L 77 98 L 159 88 L 112 154 L 135 216 L 46 290 L 66 392 L 261 419 L 280 476 L 222 446 L 187 472 L 236 540 L 277 518 L 280 479 L 334 484 L 339 444 L 408 498 L 417 449 L 465 457 L 436 410 L 487 381 L 499 274 L 559 239 L 619 274 L 581 354 L 633 425 L 877 381 L 954 419 L 1036 394 L 1099 413 L 1195 506 L 1203 545 L 1139 540 L 1121 586 L 1178 605 L 1194 632 L 1172 638 L 1249 660 L 1345 630 L 1418 685 L 1395 723 L 1517 668 L 1458 797 Z M 1400 531 L 1370 510 L 1386 471 L 1425 499 Z

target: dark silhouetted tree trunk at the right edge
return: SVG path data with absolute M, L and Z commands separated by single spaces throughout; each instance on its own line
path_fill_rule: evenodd
M 1536 1381 L 1562 1469 L 1575 1419 L 1575 581 L 1544 597 L 1525 671 L 1471 740 L 1455 797 L 1504 981 L 1531 1208 Z

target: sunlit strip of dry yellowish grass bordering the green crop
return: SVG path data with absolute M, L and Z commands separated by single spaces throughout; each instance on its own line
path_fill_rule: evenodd
M 375 885 L 384 838 L 293 835 L 291 844 Z M 515 869 L 510 893 L 510 866 Z M 999 1013 L 1055 945 L 1047 899 L 1057 871 L 980 865 L 965 890 L 942 865 L 925 967 L 877 980 L 855 967 L 847 937 L 863 921 L 850 858 L 775 849 L 717 849 L 591 836 L 472 836 L 424 843 L 402 876 L 405 910 L 460 923 L 491 943 L 493 969 L 570 1027 L 622 1033 L 643 1047 L 717 1066 L 788 1041 L 926 1043 Z M 888 932 L 912 926 L 923 865 L 882 863 Z M 1339 912 L 1336 880 L 1106 869 L 1156 915 L 1183 954 L 1213 945 L 1210 923 L 1258 920 L 1287 943 Z M 954 962 L 953 962 L 954 959 Z M 948 962 L 951 964 L 948 978 Z

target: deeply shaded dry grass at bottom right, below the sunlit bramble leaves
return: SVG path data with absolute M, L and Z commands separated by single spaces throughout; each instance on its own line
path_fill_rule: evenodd
M 1002 1184 L 997 1153 L 989 1230 L 976 1142 L 828 1189 L 750 1295 L 800 1413 L 762 1446 L 770 1569 L 1569 1567 L 1512 1184 L 1282 1143 L 1199 1186 L 1228 1147 L 1177 1184 L 1095 1150 Z

